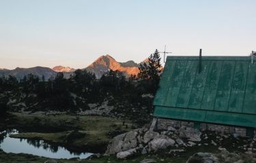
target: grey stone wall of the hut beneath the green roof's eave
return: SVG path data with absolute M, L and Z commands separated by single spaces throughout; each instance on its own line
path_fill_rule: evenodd
M 180 126 L 194 127 L 195 123 L 185 122 L 180 120 L 168 120 L 168 119 L 157 118 L 156 127 L 155 127 L 156 130 L 168 130 L 169 126 L 173 128 L 180 128 Z M 246 128 L 238 128 L 234 126 L 201 123 L 200 130 L 210 130 L 210 131 L 216 131 L 216 132 L 230 133 L 230 134 L 236 134 L 236 136 L 246 137 Z M 255 130 L 255 135 L 256 135 L 256 130 Z

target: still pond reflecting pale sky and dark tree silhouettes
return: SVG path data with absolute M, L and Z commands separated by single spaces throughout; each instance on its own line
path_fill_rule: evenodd
M 28 153 L 47 158 L 87 158 L 92 153 L 74 153 L 64 147 L 51 145 L 42 140 L 14 139 L 10 134 L 18 133 L 17 130 L 5 130 L 0 132 L 0 148 L 5 152 Z

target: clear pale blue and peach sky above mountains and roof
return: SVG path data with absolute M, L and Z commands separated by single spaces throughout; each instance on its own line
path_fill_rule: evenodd
M 249 55 L 255 0 L 0 0 L 0 68 L 85 68 L 98 56 Z

